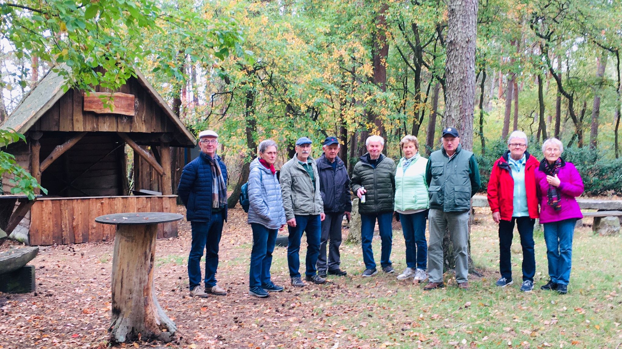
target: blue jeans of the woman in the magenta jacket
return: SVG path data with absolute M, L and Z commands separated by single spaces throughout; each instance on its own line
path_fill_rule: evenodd
M 564 219 L 559 222 L 544 223 L 546 256 L 549 260 L 550 281 L 567 285 L 572 268 L 572 236 L 577 219 Z

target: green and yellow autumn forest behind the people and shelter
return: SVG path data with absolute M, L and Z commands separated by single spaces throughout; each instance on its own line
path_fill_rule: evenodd
M 464 86 L 475 91 L 472 130 L 445 113 L 444 1 L 24 0 L 0 9 L 2 119 L 58 63 L 72 67 L 68 86 L 85 89 L 114 90 L 136 67 L 195 134 L 220 134 L 232 203 L 263 139 L 286 161 L 296 138 L 311 137 L 319 156 L 323 138 L 337 135 L 351 169 L 368 135 L 385 137 L 399 158 L 401 137 L 417 136 L 425 154 L 446 126 L 458 127 L 485 181 L 518 129 L 539 158 L 542 140 L 560 138 L 588 194 L 622 193 L 620 1 L 478 2 L 475 79 Z M 98 65 L 108 72 L 93 73 Z

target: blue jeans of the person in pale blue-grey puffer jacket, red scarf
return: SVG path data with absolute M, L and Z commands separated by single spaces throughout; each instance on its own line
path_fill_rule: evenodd
M 257 223 L 251 223 L 251 229 L 253 229 L 253 250 L 251 251 L 248 286 L 254 288 L 270 283 L 272 252 L 279 230 L 267 229 L 264 225 Z

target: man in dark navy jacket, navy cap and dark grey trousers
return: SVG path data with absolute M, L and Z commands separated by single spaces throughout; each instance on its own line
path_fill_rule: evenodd
M 347 274 L 339 268 L 341 264 L 339 247 L 341 245 L 341 221 L 344 214 L 350 219 L 352 201 L 350 200 L 350 176 L 348 176 L 346 164 L 337 156 L 340 147 L 337 137 L 326 137 L 322 145 L 324 153 L 315 161 L 320 174 L 320 193 L 326 215 L 322 220 L 320 255 L 317 258 L 317 273 L 322 278 L 325 278 L 327 274 L 337 276 Z

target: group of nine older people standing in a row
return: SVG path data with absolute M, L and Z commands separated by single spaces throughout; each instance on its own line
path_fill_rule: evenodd
M 190 296 L 225 295 L 216 283 L 218 245 L 227 218 L 227 170 L 216 154 L 218 135 L 205 130 L 198 136 L 200 155 L 183 168 L 178 193 L 192 226 L 192 247 L 188 257 Z M 468 289 L 468 220 L 471 197 L 480 189 L 480 171 L 472 152 L 460 145 L 456 129 L 442 132 L 442 148 L 426 159 L 419 154 L 417 137 L 402 138 L 404 156 L 395 163 L 383 154 L 384 138 L 366 139 L 368 150 L 353 168 L 350 178 L 338 156 L 336 137 L 323 141 L 323 154 L 311 156 L 312 140 L 295 142 L 295 155 L 277 176 L 274 163 L 278 147 L 263 140 L 258 156 L 249 166 L 248 224 L 253 230 L 249 268 L 249 294 L 268 297 L 283 291 L 272 282 L 270 268 L 277 233 L 287 227 L 287 265 L 290 283 L 304 287 L 305 281 L 323 284 L 327 275 L 345 276 L 341 270 L 340 244 L 343 216 L 350 218 L 351 197 L 359 198 L 363 277 L 378 273 L 372 238 L 376 221 L 381 238 L 380 266 L 395 273 L 391 262 L 392 220 L 401 222 L 406 243 L 406 268 L 397 279 L 428 280 L 425 290 L 445 287 L 443 283 L 443 237 L 450 233 L 455 257 L 455 276 L 460 289 Z M 526 152 L 527 137 L 515 131 L 508 139 L 508 151 L 495 161 L 488 184 L 488 201 L 493 219 L 499 224 L 499 268 L 497 286 L 513 283 L 510 246 L 514 224 L 523 248 L 522 291 L 533 289 L 535 274 L 533 228 L 539 217 L 549 258 L 549 283 L 542 289 L 564 294 L 570 276 L 572 235 L 575 220 L 582 218 L 575 197 L 583 183 L 572 163 L 560 155 L 562 143 L 556 138 L 542 145 L 544 160 Z M 538 205 L 540 209 L 538 210 Z M 429 242 L 425 220 L 429 220 Z M 300 243 L 307 236 L 304 280 L 300 274 Z M 200 260 L 205 250 L 205 288 L 201 287 Z

